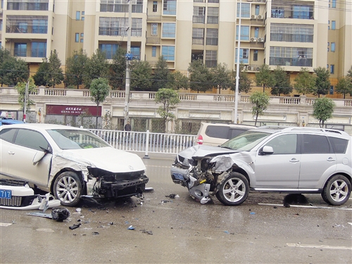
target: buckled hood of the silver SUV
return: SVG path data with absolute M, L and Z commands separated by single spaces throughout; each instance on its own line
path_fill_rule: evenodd
M 179 155 L 183 158 L 201 158 L 204 156 L 218 156 L 222 154 L 237 153 L 232 149 L 220 148 L 220 146 L 195 145 L 180 151 Z

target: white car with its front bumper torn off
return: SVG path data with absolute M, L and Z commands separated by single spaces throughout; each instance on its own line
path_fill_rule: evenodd
M 82 195 L 139 196 L 149 180 L 142 158 L 77 127 L 1 126 L 0 146 L 1 178 L 49 191 L 63 206 L 75 206 Z

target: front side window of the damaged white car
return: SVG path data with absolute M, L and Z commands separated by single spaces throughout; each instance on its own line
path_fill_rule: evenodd
M 30 149 L 37 149 L 39 151 L 42 151 L 40 147 L 49 149 L 49 144 L 45 137 L 39 132 L 33 130 L 18 130 L 15 144 L 26 146 Z

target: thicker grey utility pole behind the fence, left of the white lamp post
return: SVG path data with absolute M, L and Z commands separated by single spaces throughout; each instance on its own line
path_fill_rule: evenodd
M 124 109 L 124 124 L 127 124 L 129 119 L 128 107 L 130 104 L 130 63 L 132 61 L 133 55 L 131 54 L 131 31 L 132 31 L 132 1 L 128 1 L 128 27 L 127 27 L 127 54 L 126 54 L 126 86 L 125 86 L 125 109 Z

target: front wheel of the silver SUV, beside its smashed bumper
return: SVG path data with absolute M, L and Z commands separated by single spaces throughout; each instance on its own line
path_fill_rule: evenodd
M 249 182 L 239 172 L 230 172 L 218 185 L 216 198 L 225 206 L 239 206 L 249 194 Z

